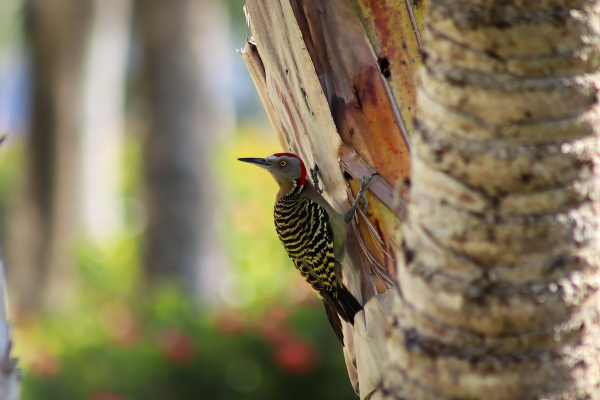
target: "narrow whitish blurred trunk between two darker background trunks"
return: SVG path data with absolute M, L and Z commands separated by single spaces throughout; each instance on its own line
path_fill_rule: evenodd
M 106 243 L 124 228 L 125 89 L 132 0 L 94 0 L 85 70 L 82 207 L 86 239 Z

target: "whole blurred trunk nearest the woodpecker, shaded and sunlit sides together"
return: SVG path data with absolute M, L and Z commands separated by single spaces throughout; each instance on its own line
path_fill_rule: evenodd
M 217 107 L 232 104 L 231 94 L 218 92 L 210 77 L 227 58 L 215 58 L 204 43 L 227 37 L 227 14 L 211 0 L 144 0 L 138 7 L 148 99 L 146 278 L 175 279 L 197 294 L 202 269 L 220 263 L 211 156 L 215 136 L 235 118 L 223 123 Z

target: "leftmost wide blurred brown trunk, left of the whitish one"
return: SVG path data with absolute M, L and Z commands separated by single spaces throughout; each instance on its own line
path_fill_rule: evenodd
M 10 279 L 17 312 L 69 293 L 80 229 L 80 130 L 89 2 L 29 0 L 32 110 L 27 181 L 11 221 Z

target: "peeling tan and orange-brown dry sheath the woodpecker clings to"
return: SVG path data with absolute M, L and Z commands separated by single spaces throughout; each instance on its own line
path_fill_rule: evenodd
M 253 38 L 241 51 L 284 149 L 319 166 L 334 206 L 346 210 L 363 176 L 375 169 L 381 176 L 371 184 L 367 215 L 359 212 L 349 225 L 343 263 L 347 286 L 365 303 L 354 326 L 344 324 L 344 355 L 361 398 L 381 380 L 394 294 L 388 288 L 396 275 L 404 213 L 398 194 L 410 173 L 406 121 L 412 115 L 404 111 L 415 107 L 408 106 L 410 95 L 398 105 L 394 93 L 402 97 L 415 85 L 391 82 L 413 69 L 405 70 L 403 59 L 418 63 L 419 46 L 413 8 L 402 5 L 398 10 L 386 3 L 371 18 L 368 5 L 359 1 L 248 1 Z M 378 18 L 385 23 L 377 25 Z M 363 26 L 370 27 L 370 36 Z M 385 26 L 401 29 L 383 34 Z M 383 44 L 392 37 L 393 50 Z M 386 64 L 390 60 L 398 64 Z

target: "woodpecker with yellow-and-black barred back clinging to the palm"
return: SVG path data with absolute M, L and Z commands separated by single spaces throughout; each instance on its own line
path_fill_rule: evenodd
M 275 198 L 274 219 L 281 240 L 296 269 L 320 295 L 329 324 L 344 345 L 340 317 L 354 324 L 362 305 L 342 283 L 340 261 L 344 255 L 346 224 L 353 218 L 359 201 L 373 176 L 363 179 L 361 190 L 346 213 L 335 210 L 321 196 L 313 173 L 314 184 L 307 181 L 302 160 L 292 153 L 277 153 L 266 158 L 238 158 L 268 170 L 279 185 Z

